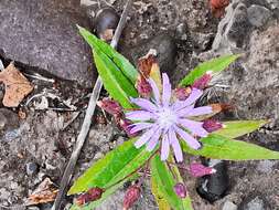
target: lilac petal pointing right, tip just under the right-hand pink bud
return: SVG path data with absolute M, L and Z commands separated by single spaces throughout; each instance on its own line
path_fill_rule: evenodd
M 190 119 L 180 118 L 178 123 L 181 124 L 186 129 L 189 129 L 193 135 L 197 135 L 201 137 L 206 137 L 208 135 L 208 133 L 203 128 L 202 122 L 194 122 Z

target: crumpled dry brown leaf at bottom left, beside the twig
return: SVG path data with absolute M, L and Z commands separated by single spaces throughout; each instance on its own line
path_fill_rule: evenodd
M 26 206 L 54 201 L 58 190 L 50 178 L 45 178 L 28 198 Z

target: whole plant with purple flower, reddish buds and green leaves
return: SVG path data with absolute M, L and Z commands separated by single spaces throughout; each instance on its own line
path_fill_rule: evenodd
M 279 159 L 279 153 L 235 138 L 251 133 L 267 120 L 214 119 L 232 108 L 227 104 L 197 102 L 212 78 L 239 55 L 225 55 L 200 64 L 176 86 L 161 73 L 153 54 L 139 60 L 138 70 L 107 43 L 83 28 L 109 97 L 97 104 L 112 115 L 129 137 L 79 177 L 68 191 L 77 195 L 72 209 L 101 204 L 129 181 L 124 209 L 130 209 L 148 182 L 159 209 L 191 210 L 191 195 L 181 176 L 203 177 L 214 168 L 191 161 L 190 155 L 226 160 Z M 185 154 L 187 154 L 185 156 Z

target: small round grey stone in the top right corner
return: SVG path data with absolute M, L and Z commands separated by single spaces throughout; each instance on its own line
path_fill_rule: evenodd
M 248 19 L 254 27 L 262 27 L 271 17 L 271 12 L 261 6 L 253 4 L 248 8 Z

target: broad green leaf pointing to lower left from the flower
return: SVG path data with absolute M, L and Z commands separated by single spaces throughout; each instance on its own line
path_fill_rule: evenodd
M 68 195 L 81 193 L 93 187 L 108 188 L 142 166 L 152 154 L 137 149 L 129 140 L 108 153 L 79 177 Z

